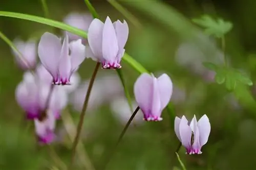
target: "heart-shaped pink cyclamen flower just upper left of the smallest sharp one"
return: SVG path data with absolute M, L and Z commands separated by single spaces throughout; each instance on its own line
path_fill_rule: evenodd
M 173 83 L 166 74 L 156 78 L 142 74 L 134 84 L 135 99 L 144 114 L 144 120 L 160 121 L 163 109 L 170 101 Z

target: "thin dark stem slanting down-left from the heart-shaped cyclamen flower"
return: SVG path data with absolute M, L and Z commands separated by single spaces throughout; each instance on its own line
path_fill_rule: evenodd
M 108 159 L 106 160 L 104 166 L 101 168 L 102 170 L 106 168 L 106 165 L 108 165 L 109 161 L 111 160 L 112 156 L 114 155 L 117 147 L 118 147 L 118 144 L 120 143 L 120 141 L 122 140 L 126 130 L 128 129 L 128 127 L 130 126 L 130 124 L 132 123 L 133 121 L 133 118 L 135 117 L 135 115 L 137 114 L 137 112 L 139 111 L 140 107 L 138 106 L 135 111 L 133 112 L 132 116 L 130 117 L 130 119 L 128 120 L 128 122 L 126 123 L 125 127 L 123 128 L 121 134 L 119 135 L 119 138 L 116 142 L 116 145 L 115 145 L 115 148 L 112 150 L 112 153 L 111 155 L 108 157 Z

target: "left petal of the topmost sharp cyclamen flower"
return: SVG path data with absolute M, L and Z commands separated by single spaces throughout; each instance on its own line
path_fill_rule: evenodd
M 99 61 L 103 60 L 102 57 L 102 34 L 104 23 L 95 18 L 88 29 L 88 42 L 94 57 Z

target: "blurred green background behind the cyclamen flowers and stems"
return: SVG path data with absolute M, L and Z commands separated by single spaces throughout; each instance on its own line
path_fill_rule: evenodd
M 58 21 L 62 21 L 70 12 L 88 12 L 81 0 L 51 0 L 47 4 L 51 18 Z M 171 102 L 174 103 L 176 115 L 184 114 L 192 118 L 196 114 L 199 118 L 207 114 L 209 117 L 211 134 L 202 149 L 203 154 L 185 155 L 184 148 L 179 152 L 186 168 L 255 169 L 255 88 L 238 87 L 235 92 L 228 92 L 224 86 L 212 81 L 211 73 L 201 63 L 223 62 L 220 41 L 204 35 L 191 22 L 191 18 L 209 14 L 231 21 L 233 29 L 226 36 L 230 65 L 247 72 L 255 82 L 256 1 L 121 1 L 120 4 L 135 16 L 132 20 L 108 2 L 97 0 L 92 1 L 92 4 L 102 19 L 109 15 L 112 20 L 125 19 L 129 23 L 130 35 L 126 44 L 129 55 L 155 75 L 166 72 L 172 78 L 174 94 Z M 3 0 L 0 2 L 0 10 L 44 16 L 39 0 Z M 49 26 L 2 16 L 0 30 L 11 40 L 16 37 L 26 40 L 31 36 L 39 40 L 46 31 L 62 36 L 60 30 Z M 49 156 L 48 147 L 37 147 L 32 123 L 20 123 L 24 113 L 15 101 L 14 92 L 17 84 L 22 81 L 23 71 L 17 67 L 10 47 L 3 40 L 0 40 L 0 52 L 0 169 L 54 169 L 53 166 L 58 167 L 59 163 Z M 83 62 L 78 71 L 83 80 L 90 79 L 94 66 L 95 62 L 91 60 Z M 122 62 L 122 70 L 133 96 L 133 84 L 139 74 L 125 62 Z M 115 75 L 116 72 L 100 70 L 100 74 Z M 81 161 L 80 154 L 77 154 L 73 169 L 101 170 L 109 157 L 124 127 L 115 118 L 109 103 L 111 101 L 97 106 L 91 111 L 92 114 L 86 115 L 82 141 L 88 158 Z M 70 110 L 74 124 L 77 125 L 79 114 L 72 106 L 67 110 Z M 181 169 L 174 154 L 179 141 L 174 133 L 174 122 L 170 122 L 167 114 L 164 110 L 162 122 L 142 122 L 139 126 L 131 126 L 107 169 Z M 67 122 L 74 126 L 70 120 Z M 62 129 L 65 127 L 59 121 L 56 131 Z M 60 141 L 52 144 L 52 148 L 68 165 L 71 144 L 66 133 Z M 83 152 L 82 149 L 79 151 Z

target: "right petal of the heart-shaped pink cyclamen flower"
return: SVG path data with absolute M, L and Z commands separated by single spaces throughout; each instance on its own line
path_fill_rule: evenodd
M 166 74 L 161 75 L 158 79 L 158 91 L 161 102 L 161 110 L 163 110 L 170 101 L 170 98 L 173 94 L 173 83 L 170 80 L 169 76 Z

